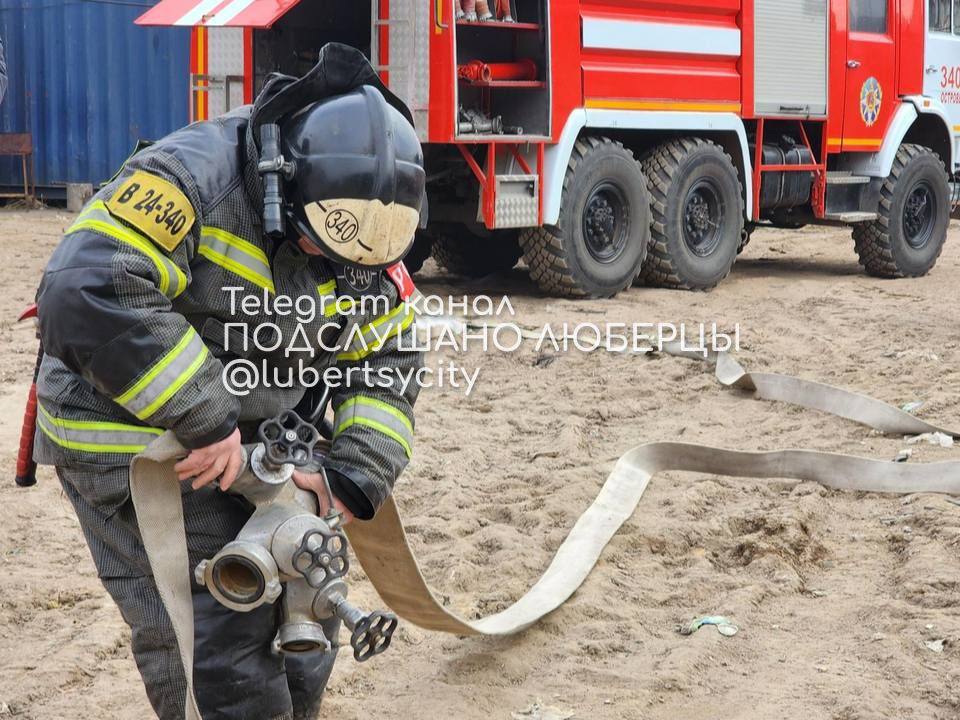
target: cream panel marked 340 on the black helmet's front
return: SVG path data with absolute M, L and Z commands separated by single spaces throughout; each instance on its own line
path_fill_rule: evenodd
M 323 200 L 304 207 L 311 240 L 334 260 L 383 268 L 401 260 L 420 224 L 415 208 L 380 200 Z

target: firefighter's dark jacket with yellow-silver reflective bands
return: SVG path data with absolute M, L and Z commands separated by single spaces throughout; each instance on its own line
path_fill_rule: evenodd
M 295 407 L 305 392 L 300 365 L 320 372 L 337 365 L 344 373 L 366 365 L 370 372 L 352 374 L 334 392 L 326 465 L 348 507 L 369 517 L 413 445 L 416 383 L 402 389 L 401 375 L 390 373 L 409 375 L 422 363 L 420 353 L 399 348 L 412 346 L 412 310 L 384 273 L 373 273 L 358 293 L 344 268 L 262 234 L 250 116 L 248 106 L 194 123 L 136 153 L 67 229 L 38 292 L 46 356 L 35 457 L 64 466 L 124 465 L 163 429 L 188 448 L 203 447 L 238 423 Z M 349 287 L 344 275 L 355 281 L 355 310 L 347 313 L 348 302 L 333 302 Z M 227 287 L 242 288 L 235 299 L 312 294 L 317 317 L 303 323 L 262 302 L 248 315 L 231 308 Z M 380 301 L 364 304 L 364 293 Z M 236 322 L 247 325 L 246 350 L 242 332 L 225 334 Z M 252 343 L 263 323 L 280 328 L 279 343 L 272 330 L 260 336 L 263 348 L 275 350 Z M 324 325 L 328 348 L 338 338 L 352 342 L 339 352 L 315 341 L 306 347 L 303 338 L 315 339 Z M 223 368 L 238 358 L 278 371 L 270 387 L 260 378 L 248 395 L 228 391 Z M 277 387 L 276 378 L 287 383 L 288 369 L 293 387 Z

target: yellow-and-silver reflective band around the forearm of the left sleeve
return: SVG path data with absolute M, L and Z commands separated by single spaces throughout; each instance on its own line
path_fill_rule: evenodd
M 196 375 L 207 352 L 207 346 L 191 327 L 172 350 L 114 401 L 140 420 L 146 420 Z

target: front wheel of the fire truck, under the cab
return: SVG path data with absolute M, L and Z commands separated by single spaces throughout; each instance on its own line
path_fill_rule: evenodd
M 940 158 L 901 145 L 880 189 L 880 217 L 853 228 L 860 264 L 875 277 L 926 275 L 937 264 L 950 225 L 950 189 Z

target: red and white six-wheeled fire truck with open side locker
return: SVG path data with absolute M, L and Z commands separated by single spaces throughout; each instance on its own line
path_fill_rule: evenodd
M 195 27 L 197 119 L 328 41 L 364 50 L 424 142 L 414 270 L 522 256 L 545 291 L 603 297 L 711 288 L 759 224 L 849 224 L 881 277 L 946 238 L 951 0 L 161 0 L 138 22 Z

